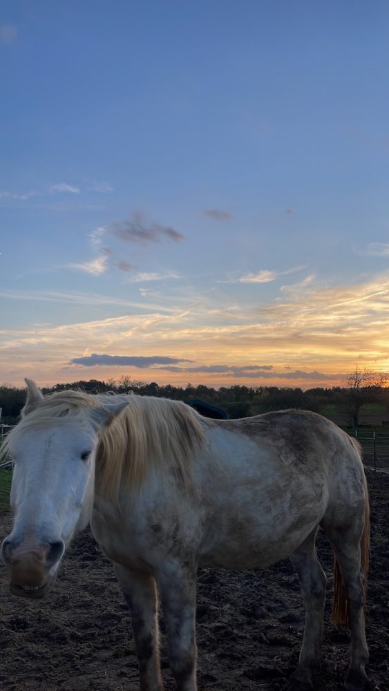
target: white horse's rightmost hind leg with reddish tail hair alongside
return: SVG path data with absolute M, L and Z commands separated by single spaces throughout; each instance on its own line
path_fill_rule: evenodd
M 355 509 L 353 509 L 355 512 Z M 345 678 L 344 687 L 347 691 L 362 691 L 367 688 L 368 677 L 365 665 L 368 663 L 369 653 L 365 634 L 365 603 L 366 603 L 366 578 L 368 570 L 368 533 L 369 533 L 369 508 L 366 494 L 366 509 L 357 515 L 354 513 L 352 520 L 346 525 L 338 526 L 330 524 L 328 520 L 323 522 L 323 528 L 330 539 L 336 561 L 338 562 L 347 607 L 342 606 L 343 617 L 336 616 L 337 607 L 334 601 L 333 621 L 350 626 L 351 649 L 350 666 Z M 341 586 L 336 585 L 335 570 L 335 594 L 341 594 Z M 338 609 L 339 611 L 339 609 Z

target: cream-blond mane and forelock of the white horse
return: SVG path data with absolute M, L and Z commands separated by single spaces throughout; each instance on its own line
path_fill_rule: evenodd
M 11 442 L 26 431 L 68 424 L 71 419 L 86 425 L 93 421 L 94 409 L 120 402 L 129 405 L 99 430 L 97 493 L 116 502 L 120 489 L 140 489 L 153 469 L 166 464 L 187 487 L 194 451 L 203 444 L 205 428 L 213 422 L 182 401 L 128 394 L 91 395 L 81 390 L 55 392 L 22 417 L 8 434 L 1 453 L 5 456 Z

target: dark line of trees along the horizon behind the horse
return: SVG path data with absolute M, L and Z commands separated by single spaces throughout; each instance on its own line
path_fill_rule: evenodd
M 181 401 L 200 399 L 218 408 L 225 410 L 228 417 L 250 417 L 260 415 L 271 410 L 285 410 L 285 408 L 300 408 L 312 410 L 314 413 L 326 414 L 333 411 L 333 415 L 343 415 L 345 424 L 356 427 L 359 424 L 361 408 L 366 404 L 389 404 L 389 388 L 386 386 L 387 377 L 382 374 L 374 374 L 368 370 L 360 371 L 358 368 L 347 375 L 345 386 L 332 388 L 310 388 L 303 391 L 301 388 L 278 386 L 245 386 L 233 384 L 214 388 L 199 384 L 185 387 L 160 385 L 155 381 L 146 383 L 129 377 L 121 377 L 118 380 L 108 379 L 99 381 L 74 381 L 72 384 L 55 384 L 51 388 L 42 388 L 44 394 L 53 393 L 65 389 L 81 389 L 91 394 L 97 393 L 129 393 L 133 391 L 137 395 L 156 396 Z M 1 422 L 3 424 L 16 424 L 21 408 L 26 399 L 26 389 L 14 386 L 0 386 L 0 408 L 2 408 Z

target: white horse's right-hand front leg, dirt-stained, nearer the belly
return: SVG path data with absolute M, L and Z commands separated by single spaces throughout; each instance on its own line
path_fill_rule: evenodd
M 178 691 L 197 691 L 197 565 L 169 565 L 157 574 L 169 645 L 169 663 Z

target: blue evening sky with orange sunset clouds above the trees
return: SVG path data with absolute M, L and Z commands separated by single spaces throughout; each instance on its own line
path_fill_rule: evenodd
M 386 0 L 3 0 L 0 384 L 389 372 Z

